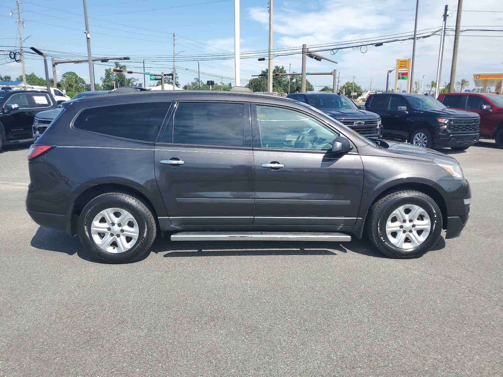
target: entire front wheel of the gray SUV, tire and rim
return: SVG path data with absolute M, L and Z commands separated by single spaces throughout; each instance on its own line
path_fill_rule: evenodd
M 425 193 L 398 191 L 370 208 L 367 233 L 374 246 L 391 258 L 414 258 L 433 247 L 442 232 L 442 213 Z

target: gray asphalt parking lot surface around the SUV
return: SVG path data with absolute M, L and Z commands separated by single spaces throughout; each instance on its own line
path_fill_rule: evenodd
M 108 265 L 25 211 L 0 153 L 0 376 L 503 375 L 503 151 L 456 157 L 461 237 L 412 260 L 365 240 L 170 242 Z M 445 232 L 443 233 L 445 235 Z

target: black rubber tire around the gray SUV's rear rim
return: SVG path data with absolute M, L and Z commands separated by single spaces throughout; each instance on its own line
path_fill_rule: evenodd
M 100 248 L 93 240 L 91 224 L 101 211 L 108 208 L 124 209 L 134 217 L 139 235 L 129 250 L 111 253 Z M 109 263 L 129 263 L 142 259 L 149 253 L 155 235 L 156 225 L 152 212 L 137 198 L 122 193 L 107 193 L 94 198 L 82 210 L 78 220 L 78 237 L 82 246 L 86 251 Z

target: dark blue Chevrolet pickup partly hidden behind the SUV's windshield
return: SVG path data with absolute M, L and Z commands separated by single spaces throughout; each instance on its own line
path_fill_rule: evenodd
M 340 93 L 291 93 L 287 97 L 321 110 L 360 135 L 382 137 L 381 118 L 375 113 L 360 109 L 349 97 Z

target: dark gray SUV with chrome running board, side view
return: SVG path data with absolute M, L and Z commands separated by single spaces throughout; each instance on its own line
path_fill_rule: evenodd
M 109 262 L 177 241 L 350 241 L 422 255 L 470 207 L 457 161 L 379 145 L 297 101 L 160 91 L 77 100 L 28 155 L 26 207 Z

